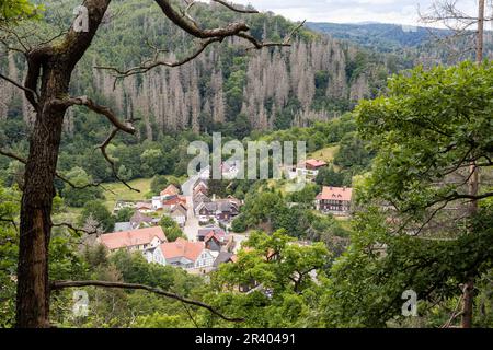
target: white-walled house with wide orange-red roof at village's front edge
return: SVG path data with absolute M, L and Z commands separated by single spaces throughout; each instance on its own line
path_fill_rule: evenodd
M 146 252 L 149 262 L 170 265 L 184 269 L 210 268 L 215 256 L 204 242 L 188 242 L 177 238 L 175 242 L 163 243 Z

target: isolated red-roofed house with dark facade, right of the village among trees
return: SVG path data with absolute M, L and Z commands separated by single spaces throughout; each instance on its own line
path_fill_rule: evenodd
M 317 210 L 333 214 L 349 214 L 353 188 L 323 186 L 316 197 Z

